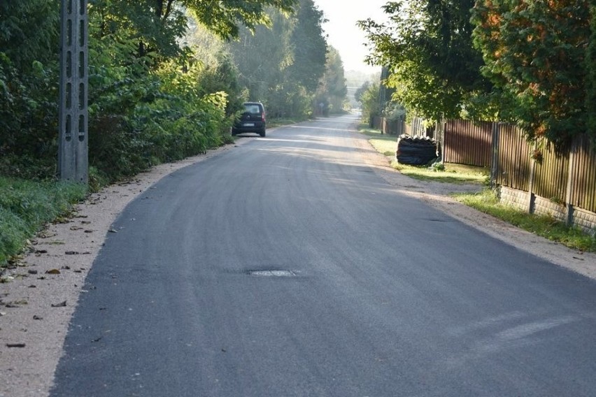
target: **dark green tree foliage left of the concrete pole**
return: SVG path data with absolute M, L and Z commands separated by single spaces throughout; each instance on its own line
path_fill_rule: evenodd
M 0 169 L 55 163 L 58 36 L 57 2 L 0 1 Z

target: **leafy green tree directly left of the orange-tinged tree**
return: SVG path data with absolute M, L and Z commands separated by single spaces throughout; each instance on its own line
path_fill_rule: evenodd
M 372 46 L 368 61 L 388 66 L 396 100 L 420 116 L 437 120 L 472 110 L 490 92 L 480 73 L 481 53 L 471 41 L 474 0 L 390 1 L 390 22 L 360 21 Z

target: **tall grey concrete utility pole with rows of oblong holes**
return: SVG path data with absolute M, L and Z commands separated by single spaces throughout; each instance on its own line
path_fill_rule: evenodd
M 87 183 L 87 0 L 62 0 L 58 172 Z

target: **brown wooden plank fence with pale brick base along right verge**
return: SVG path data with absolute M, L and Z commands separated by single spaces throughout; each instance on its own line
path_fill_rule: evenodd
M 448 120 L 441 127 L 444 162 L 490 168 L 493 184 L 526 194 L 527 211 L 596 231 L 596 147 L 587 135 L 556 151 L 548 140 L 529 143 L 510 124 Z M 587 211 L 579 220 L 578 210 Z

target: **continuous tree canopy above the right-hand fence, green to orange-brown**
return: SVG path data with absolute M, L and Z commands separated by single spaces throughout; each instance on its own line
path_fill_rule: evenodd
M 589 0 L 389 1 L 389 22 L 361 21 L 369 62 L 427 119 L 518 124 L 556 146 L 596 137 L 594 5 Z

